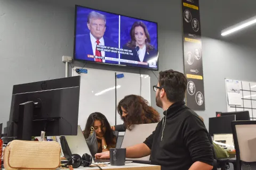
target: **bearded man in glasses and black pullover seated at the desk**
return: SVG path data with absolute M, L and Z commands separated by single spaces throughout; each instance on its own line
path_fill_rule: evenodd
M 164 118 L 156 130 L 138 145 L 126 148 L 127 158 L 151 154 L 151 164 L 162 170 L 206 170 L 213 168 L 213 152 L 208 132 L 198 115 L 183 101 L 187 89 L 184 74 L 167 70 L 159 73 L 156 105 L 164 110 Z M 109 152 L 96 154 L 109 158 Z

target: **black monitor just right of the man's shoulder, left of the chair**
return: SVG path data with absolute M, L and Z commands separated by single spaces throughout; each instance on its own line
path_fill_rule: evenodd
M 210 117 L 209 118 L 209 133 L 213 134 L 228 134 L 232 133 L 231 122 L 236 120 L 235 115 Z

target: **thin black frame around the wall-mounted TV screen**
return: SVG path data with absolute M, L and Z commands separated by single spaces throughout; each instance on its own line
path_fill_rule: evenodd
M 79 60 L 79 59 L 75 59 L 75 52 L 76 52 L 76 19 L 77 19 L 77 7 L 85 7 L 85 8 L 89 8 L 91 10 L 97 10 L 97 11 L 102 11 L 102 12 L 107 12 L 110 14 L 115 14 L 115 15 L 121 15 L 121 14 L 117 14 L 117 13 L 113 13 L 113 12 L 108 12 L 108 11 L 103 11 L 103 10 L 98 10 L 95 8 L 91 8 L 91 7 L 87 7 L 87 6 L 82 6 L 82 5 L 75 5 L 75 29 L 74 29 L 74 52 L 73 52 L 73 58 L 75 61 L 84 61 L 84 62 L 89 62 L 89 63 L 97 63 L 97 64 L 107 64 L 107 65 L 116 65 L 116 66 L 123 66 L 123 67 L 132 67 L 132 68 L 137 68 L 137 69 L 145 69 L 145 70 L 154 70 L 154 71 L 158 71 L 159 70 L 159 44 L 158 44 L 158 23 L 154 22 L 154 21 L 149 21 L 149 20 L 143 20 L 140 18 L 135 18 L 135 17 L 131 17 L 131 16 L 127 16 L 127 15 L 121 15 L 121 16 L 126 16 L 129 18 L 133 18 L 133 19 L 138 19 L 141 21 L 147 21 L 147 22 L 153 22 L 156 23 L 156 33 L 157 33 L 157 69 L 154 68 L 150 68 L 150 67 L 138 67 L 138 66 L 127 66 L 127 65 L 120 65 L 120 64 L 111 64 L 111 63 L 100 63 L 100 62 L 95 62 L 95 61 L 87 61 L 87 60 Z

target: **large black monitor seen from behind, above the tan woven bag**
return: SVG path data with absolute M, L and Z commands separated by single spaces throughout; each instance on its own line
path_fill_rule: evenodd
M 13 86 L 7 137 L 76 135 L 80 76 Z

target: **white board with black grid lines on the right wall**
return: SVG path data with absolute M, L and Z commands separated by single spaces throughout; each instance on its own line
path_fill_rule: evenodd
M 256 120 L 256 82 L 225 79 L 225 84 L 227 111 L 249 111 Z

